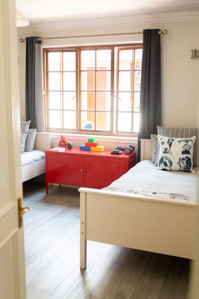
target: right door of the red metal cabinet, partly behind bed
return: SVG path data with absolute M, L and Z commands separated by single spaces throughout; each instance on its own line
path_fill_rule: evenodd
M 104 188 L 125 173 L 125 160 L 109 158 L 85 158 L 87 187 Z

